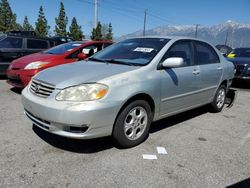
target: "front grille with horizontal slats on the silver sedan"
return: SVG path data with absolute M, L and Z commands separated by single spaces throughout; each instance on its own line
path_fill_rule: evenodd
M 30 85 L 30 91 L 43 98 L 47 98 L 55 90 L 55 86 L 39 80 L 33 79 Z

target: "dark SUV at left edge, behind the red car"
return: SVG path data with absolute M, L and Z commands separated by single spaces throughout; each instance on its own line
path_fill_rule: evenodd
M 0 75 L 6 75 L 6 70 L 14 59 L 48 49 L 54 45 L 53 39 L 36 37 L 31 32 L 12 32 L 1 35 Z

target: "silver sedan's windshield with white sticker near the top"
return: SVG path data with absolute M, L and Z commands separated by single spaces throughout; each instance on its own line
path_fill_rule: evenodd
M 90 60 L 114 64 L 143 66 L 167 44 L 165 38 L 127 39 L 94 54 Z

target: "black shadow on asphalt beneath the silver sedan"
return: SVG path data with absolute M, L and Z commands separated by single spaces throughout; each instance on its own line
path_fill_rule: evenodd
M 150 134 L 156 133 L 162 129 L 166 129 L 168 127 L 174 126 L 178 123 L 182 123 L 189 119 L 195 118 L 196 116 L 200 116 L 208 112 L 208 108 L 206 106 L 197 108 L 195 110 L 190 110 L 185 113 L 181 113 L 169 118 L 165 118 L 163 120 L 154 122 L 150 129 Z M 98 139 L 90 139 L 90 140 L 75 140 L 69 139 L 61 136 L 57 136 L 51 133 L 48 133 L 37 126 L 33 125 L 33 131 L 45 142 L 48 144 L 75 153 L 96 153 L 99 151 L 111 149 L 117 146 L 111 137 L 104 137 Z M 149 138 L 150 139 L 150 136 Z

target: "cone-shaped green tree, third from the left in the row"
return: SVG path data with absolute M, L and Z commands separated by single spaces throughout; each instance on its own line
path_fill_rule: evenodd
M 47 19 L 45 18 L 43 7 L 40 6 L 35 28 L 36 35 L 40 37 L 46 37 L 48 35 L 49 28 L 50 26 L 48 25 Z

